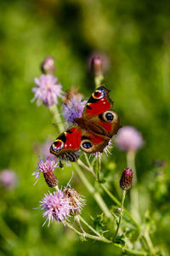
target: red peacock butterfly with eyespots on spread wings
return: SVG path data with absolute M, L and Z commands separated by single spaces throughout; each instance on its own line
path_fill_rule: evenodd
M 59 160 L 77 161 L 77 151 L 103 152 L 114 134 L 121 128 L 113 102 L 105 86 L 100 86 L 88 99 L 82 117 L 75 118 L 74 125 L 54 140 L 50 153 Z

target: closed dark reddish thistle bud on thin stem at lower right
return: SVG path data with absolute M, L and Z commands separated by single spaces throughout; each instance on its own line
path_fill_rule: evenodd
M 129 168 L 122 172 L 122 177 L 120 179 L 120 187 L 123 190 L 130 189 L 133 183 L 133 171 Z

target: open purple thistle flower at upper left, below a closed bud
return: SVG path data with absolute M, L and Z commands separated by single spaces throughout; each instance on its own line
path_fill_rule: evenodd
M 61 84 L 56 84 L 57 81 L 58 79 L 50 74 L 42 74 L 39 79 L 35 79 L 37 87 L 32 89 L 35 94 L 33 101 L 37 99 L 37 105 L 40 105 L 42 101 L 47 107 L 57 104 L 62 88 Z

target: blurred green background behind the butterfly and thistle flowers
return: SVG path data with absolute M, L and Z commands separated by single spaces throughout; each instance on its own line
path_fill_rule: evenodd
M 0 4 L 0 168 L 13 169 L 18 177 L 16 188 L 0 188 L 0 255 L 121 255 L 103 243 L 78 241 L 62 224 L 42 228 L 42 212 L 34 209 L 48 191 L 42 177 L 33 186 L 35 148 L 57 134 L 48 108 L 31 103 L 33 80 L 41 74 L 40 63 L 51 55 L 63 90 L 73 84 L 88 97 L 94 90 L 88 58 L 96 51 L 105 55 L 106 86 L 122 125 L 133 125 L 143 134 L 145 144 L 136 160 L 141 214 L 144 218 L 150 210 L 153 242 L 169 255 L 170 2 L 8 0 Z M 116 148 L 112 153 L 110 161 L 116 162 L 112 177 L 118 183 L 126 156 Z M 167 166 L 158 172 L 153 160 L 166 160 Z M 66 184 L 71 173 L 71 167 L 59 171 L 59 183 Z M 76 174 L 73 179 L 87 197 L 82 215 L 90 219 L 100 209 Z

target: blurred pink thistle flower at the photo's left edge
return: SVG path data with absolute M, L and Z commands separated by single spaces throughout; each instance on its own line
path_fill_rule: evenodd
M 0 183 L 4 188 L 12 189 L 17 182 L 16 173 L 12 170 L 5 169 L 0 172 Z

